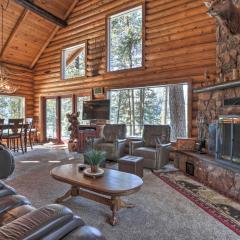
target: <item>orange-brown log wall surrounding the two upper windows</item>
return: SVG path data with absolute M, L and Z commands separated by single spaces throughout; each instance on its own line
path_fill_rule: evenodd
M 106 16 L 145 2 L 145 69 L 107 73 Z M 93 87 L 119 88 L 166 83 L 204 84 L 204 72 L 216 73 L 216 26 L 203 0 L 81 0 L 39 59 L 34 73 L 34 115 L 40 97 Z M 88 43 L 87 77 L 61 80 L 61 49 Z M 197 96 L 190 99 L 192 135 L 196 136 Z

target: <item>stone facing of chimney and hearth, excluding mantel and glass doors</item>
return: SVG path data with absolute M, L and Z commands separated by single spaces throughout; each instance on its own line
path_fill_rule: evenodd
M 240 7 L 240 0 L 233 0 Z M 216 79 L 215 84 L 240 80 L 240 35 L 230 35 L 217 23 Z M 233 79 L 233 69 L 238 69 L 238 79 Z M 208 81 L 211 85 L 212 82 Z M 219 115 L 240 115 L 240 106 L 224 106 L 224 99 L 240 97 L 240 87 L 198 94 L 198 111 L 203 113 L 207 123 L 217 122 Z M 206 129 L 208 133 L 208 129 Z M 207 136 L 208 137 L 208 136 Z M 211 155 L 177 151 L 174 161 L 183 172 L 186 162 L 195 167 L 194 176 L 203 184 L 240 201 L 240 171 L 226 167 Z

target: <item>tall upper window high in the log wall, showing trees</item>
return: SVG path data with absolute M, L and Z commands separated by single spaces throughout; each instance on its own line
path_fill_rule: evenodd
M 108 18 L 108 70 L 143 66 L 142 6 Z

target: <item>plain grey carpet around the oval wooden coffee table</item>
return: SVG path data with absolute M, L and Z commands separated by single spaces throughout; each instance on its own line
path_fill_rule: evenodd
M 81 161 L 81 156 L 65 150 L 35 147 L 27 154 L 16 155 L 16 171 L 8 184 L 36 207 L 53 203 L 68 186 L 52 179 L 50 169 Z M 64 204 L 109 240 L 239 240 L 237 234 L 150 171 L 144 173 L 143 180 L 141 191 L 126 197 L 136 207 L 120 210 L 120 223 L 115 227 L 105 221 L 110 214 L 107 206 L 80 197 Z

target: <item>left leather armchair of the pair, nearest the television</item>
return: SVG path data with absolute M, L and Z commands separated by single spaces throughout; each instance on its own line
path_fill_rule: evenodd
M 117 161 L 124 155 L 126 144 L 125 124 L 106 124 L 101 138 L 95 138 L 93 148 L 107 153 L 107 159 Z

